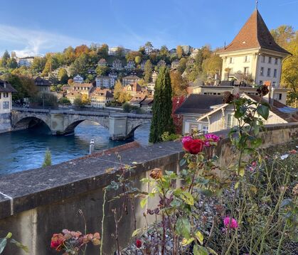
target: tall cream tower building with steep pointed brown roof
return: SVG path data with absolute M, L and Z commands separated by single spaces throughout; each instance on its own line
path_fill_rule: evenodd
M 250 75 L 253 83 L 280 86 L 282 60 L 291 55 L 277 45 L 259 11 L 255 9 L 232 43 L 218 50 L 223 58 L 221 80 L 235 73 Z

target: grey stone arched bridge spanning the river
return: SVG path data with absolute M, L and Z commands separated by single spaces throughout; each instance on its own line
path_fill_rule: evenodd
M 28 129 L 44 122 L 53 135 L 71 134 L 85 120 L 95 121 L 109 129 L 112 140 L 126 140 L 134 136 L 139 126 L 149 123 L 151 115 L 26 108 L 14 108 L 11 112 L 12 130 Z

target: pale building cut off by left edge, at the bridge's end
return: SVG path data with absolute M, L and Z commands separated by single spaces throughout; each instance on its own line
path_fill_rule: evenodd
M 0 80 L 0 133 L 11 130 L 11 94 L 16 92 L 16 89 L 11 85 Z

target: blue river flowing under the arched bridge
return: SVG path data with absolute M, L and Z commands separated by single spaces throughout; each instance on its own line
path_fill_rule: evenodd
M 149 124 L 134 132 L 134 141 L 148 144 Z M 75 134 L 52 136 L 47 126 L 0 134 L 0 175 L 41 167 L 46 149 L 52 156 L 52 164 L 69 161 L 89 153 L 90 140 L 95 140 L 95 151 L 112 148 L 129 141 L 111 141 L 109 131 L 100 124 L 83 121 Z

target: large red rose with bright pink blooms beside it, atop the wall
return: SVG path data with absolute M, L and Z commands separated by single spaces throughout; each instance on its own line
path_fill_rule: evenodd
M 184 150 L 191 154 L 198 154 L 203 151 L 203 146 L 209 147 L 212 143 L 220 141 L 220 137 L 215 134 L 206 134 L 201 139 L 195 139 L 192 136 L 184 136 L 182 144 Z

